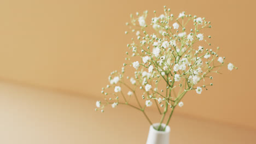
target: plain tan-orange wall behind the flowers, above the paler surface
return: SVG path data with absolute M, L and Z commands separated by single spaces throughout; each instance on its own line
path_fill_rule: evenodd
M 256 130 L 256 13 L 255 3 L 248 0 L 3 0 L 1 81 L 100 99 L 108 75 L 124 62 L 126 44 L 130 43 L 130 35 L 124 34 L 125 22 L 129 21 L 130 13 L 162 11 L 163 5 L 176 15 L 186 11 L 210 20 L 212 47 L 220 46 L 220 55 L 239 68 L 232 72 L 224 68 L 223 75 L 214 76 L 210 91 L 201 95 L 189 93 L 184 98 L 184 107 L 176 113 Z M 45 99 L 50 99 L 48 96 Z M 97 118 L 94 116 L 87 119 L 91 122 Z

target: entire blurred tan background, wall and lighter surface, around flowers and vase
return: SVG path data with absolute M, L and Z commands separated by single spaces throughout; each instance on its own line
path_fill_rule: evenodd
M 163 6 L 206 17 L 212 47 L 238 70 L 189 93 L 170 123 L 171 143 L 256 143 L 254 1 L 0 2 L 0 143 L 146 143 L 149 124 L 126 106 L 95 112 L 124 63 L 130 14 Z M 153 122 L 160 117 L 148 112 Z

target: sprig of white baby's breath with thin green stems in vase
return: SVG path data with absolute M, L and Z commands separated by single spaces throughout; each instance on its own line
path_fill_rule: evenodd
M 134 33 L 136 38 L 127 45 L 130 51 L 126 52 L 121 72 L 113 71 L 109 85 L 102 88 L 105 100 L 96 102 L 96 110 L 103 112 L 109 104 L 113 108 L 119 104 L 129 105 L 142 111 L 152 124 L 145 109 L 156 105 L 162 115 L 160 123 L 167 119 L 168 125 L 173 110 L 184 105 L 181 100 L 187 92 L 201 94 L 213 86 L 211 74 L 220 74 L 219 69 L 226 62 L 225 57 L 218 55 L 219 47 L 212 49 L 208 43 L 211 36 L 206 35 L 205 29 L 211 28 L 211 22 L 185 12 L 175 18 L 170 9 L 164 8 L 165 13 L 161 15 L 154 11 L 155 17 L 148 23 L 148 11 L 136 16 L 131 14 L 131 23 L 126 23 L 130 30 L 125 34 Z M 129 65 L 135 72 L 125 77 L 125 67 Z M 237 69 L 228 64 L 229 70 L 234 68 Z M 132 98 L 137 106 L 129 103 Z M 171 112 L 165 117 L 168 110 Z

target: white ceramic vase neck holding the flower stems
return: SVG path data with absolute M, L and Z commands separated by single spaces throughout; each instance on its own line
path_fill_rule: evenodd
M 153 127 L 158 128 L 160 123 L 150 125 L 147 144 L 169 144 L 170 127 L 167 125 L 165 131 L 155 130 Z M 165 128 L 165 124 L 161 124 L 161 129 Z

